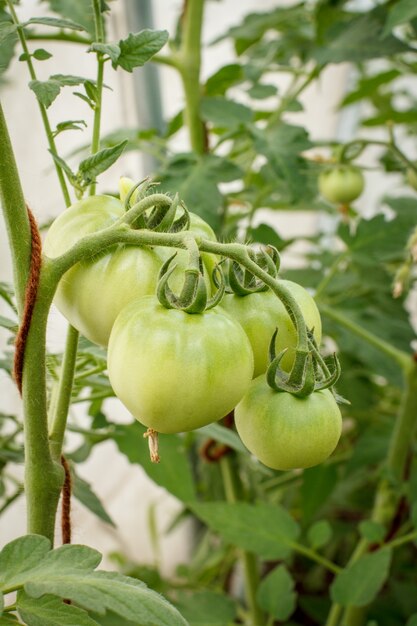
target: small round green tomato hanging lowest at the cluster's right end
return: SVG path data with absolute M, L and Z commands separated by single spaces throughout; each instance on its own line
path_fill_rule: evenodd
M 328 389 L 305 398 L 271 389 L 256 378 L 235 409 L 236 428 L 245 446 L 264 465 L 277 470 L 312 467 L 336 448 L 342 416 Z

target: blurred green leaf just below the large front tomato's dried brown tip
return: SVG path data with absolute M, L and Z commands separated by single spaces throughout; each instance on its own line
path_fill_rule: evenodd
M 148 442 L 143 437 L 145 431 L 146 428 L 136 422 L 118 426 L 114 440 L 129 461 L 141 465 L 157 485 L 183 502 L 195 500 L 194 479 L 183 439 L 178 435 L 161 435 L 159 454 L 163 463 L 151 463 Z

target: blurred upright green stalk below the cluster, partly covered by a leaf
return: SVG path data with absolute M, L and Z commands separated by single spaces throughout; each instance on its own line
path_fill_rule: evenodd
M 239 477 L 233 460 L 229 456 L 222 457 L 220 459 L 220 469 L 227 502 L 231 504 L 238 502 L 237 482 Z M 251 552 L 246 552 L 245 550 L 240 550 L 239 552 L 242 559 L 245 593 L 252 618 L 252 626 L 262 626 L 264 624 L 264 615 L 256 601 L 256 591 L 259 585 L 258 562 L 256 556 Z

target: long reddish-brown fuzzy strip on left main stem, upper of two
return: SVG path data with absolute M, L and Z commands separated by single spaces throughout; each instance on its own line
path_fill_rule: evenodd
M 30 232 L 32 237 L 31 259 L 29 276 L 25 290 L 25 304 L 23 309 L 22 322 L 16 335 L 16 350 L 13 364 L 13 377 L 16 381 L 16 385 L 19 389 L 20 394 L 22 394 L 22 376 L 26 339 L 29 333 L 33 308 L 35 306 L 36 294 L 39 284 L 39 275 L 42 264 L 42 241 L 39 234 L 38 225 L 28 205 L 26 205 L 26 210 L 28 212 Z

